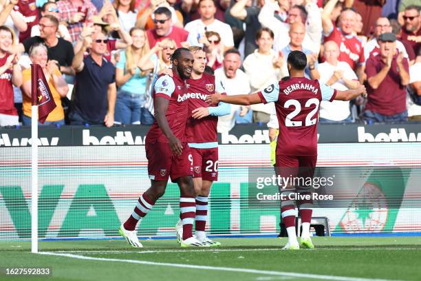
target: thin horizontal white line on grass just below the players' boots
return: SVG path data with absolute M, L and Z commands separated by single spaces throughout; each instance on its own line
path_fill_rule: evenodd
M 421 248 L 316 248 L 312 250 L 305 250 L 305 251 L 363 251 L 363 250 L 414 250 L 414 251 L 421 251 Z M 54 251 L 54 253 L 85 253 L 89 255 L 94 254 L 104 254 L 104 253 L 191 253 L 191 252 L 231 252 L 231 251 L 281 251 L 281 247 L 279 248 L 250 248 L 250 249 L 200 249 L 200 250 L 155 250 L 155 251 L 116 251 L 116 250 L 110 250 L 110 251 L 102 251 L 102 250 L 92 250 L 92 251 Z

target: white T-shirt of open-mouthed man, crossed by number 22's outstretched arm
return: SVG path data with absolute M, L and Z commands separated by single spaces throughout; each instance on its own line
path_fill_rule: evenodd
M 237 70 L 235 78 L 229 79 L 224 72 L 224 67 L 215 70 L 215 78 L 224 83 L 226 94 L 234 96 L 236 94 L 250 94 L 250 81 L 248 76 L 242 71 Z M 235 125 L 235 112 L 240 108 L 239 105 L 231 105 L 231 113 L 226 116 L 219 116 L 217 131 L 218 133 L 229 132 Z

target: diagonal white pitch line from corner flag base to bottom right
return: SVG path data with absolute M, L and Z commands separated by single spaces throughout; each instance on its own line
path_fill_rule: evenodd
M 169 262 L 149 262 L 147 260 L 120 260 L 117 258 L 94 258 L 89 256 L 74 255 L 72 253 L 51 253 L 51 252 L 39 252 L 41 255 L 49 256 L 62 256 L 67 258 L 76 258 L 79 260 L 99 260 L 102 262 L 127 262 L 133 264 L 147 264 L 156 265 L 161 267 L 178 267 L 182 269 L 200 269 L 200 270 L 214 270 L 214 271 L 230 271 L 230 272 L 242 272 L 252 273 L 260 275 L 277 275 L 277 276 L 290 276 L 294 278 L 310 278 L 310 279 L 321 279 L 321 280 L 336 280 L 336 281 L 391 281 L 386 279 L 369 279 L 369 278 L 354 278 L 346 276 L 335 276 L 335 275 L 319 275 L 319 274 L 308 274 L 308 273 L 295 273 L 286 271 L 268 271 L 258 269 L 241 269 L 235 267 L 210 267 L 206 265 L 194 265 L 194 264 L 176 264 Z

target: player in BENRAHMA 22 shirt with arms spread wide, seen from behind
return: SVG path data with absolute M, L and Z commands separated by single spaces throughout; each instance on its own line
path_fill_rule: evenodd
M 355 90 L 338 91 L 319 82 L 304 77 L 307 58 L 301 51 L 292 51 L 288 55 L 290 79 L 279 81 L 255 94 L 226 96 L 213 94 L 206 101 L 215 105 L 221 101 L 237 105 L 257 103 L 275 103 L 279 122 L 279 136 L 276 150 L 275 171 L 282 177 L 313 177 L 317 162 L 317 123 L 321 101 L 349 101 L 360 94 L 367 95 L 361 85 Z M 308 187 L 296 187 L 305 191 Z M 285 195 L 294 191 L 294 187 L 283 189 Z M 286 196 L 288 198 L 288 196 Z M 297 202 L 303 225 L 301 247 L 314 248 L 310 239 L 310 221 L 312 202 Z M 281 202 L 281 216 L 288 232 L 288 243 L 283 249 L 299 249 L 295 232 L 296 210 L 294 201 Z

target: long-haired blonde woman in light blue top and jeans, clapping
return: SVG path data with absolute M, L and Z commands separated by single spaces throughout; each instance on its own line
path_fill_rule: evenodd
M 162 50 L 162 42 L 149 49 L 146 34 L 141 28 L 131 28 L 133 43 L 120 53 L 116 65 L 116 84 L 120 87 L 116 101 L 116 124 L 153 123 L 153 116 L 144 107 L 149 73 L 158 63 L 156 52 Z

